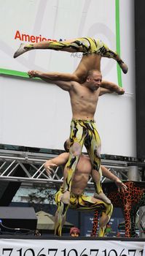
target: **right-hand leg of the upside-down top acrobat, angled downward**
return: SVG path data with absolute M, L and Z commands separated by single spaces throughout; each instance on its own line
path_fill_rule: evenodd
M 127 64 L 122 61 L 122 59 L 119 57 L 117 53 L 115 53 L 113 50 L 110 50 L 107 45 L 103 44 L 102 48 L 100 49 L 101 56 L 106 58 L 111 58 L 117 61 L 119 64 L 119 67 L 122 69 L 122 72 L 125 74 L 128 72 L 128 66 Z

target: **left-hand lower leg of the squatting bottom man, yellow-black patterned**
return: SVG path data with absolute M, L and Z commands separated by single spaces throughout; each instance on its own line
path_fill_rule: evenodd
M 61 236 L 63 225 L 66 221 L 66 212 L 68 211 L 68 204 L 61 201 L 62 193 L 59 191 L 55 196 L 57 203 L 57 211 L 55 212 L 55 236 Z

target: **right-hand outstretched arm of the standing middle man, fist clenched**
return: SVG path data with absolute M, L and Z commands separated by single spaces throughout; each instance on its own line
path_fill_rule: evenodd
M 121 87 L 117 86 L 117 84 L 111 83 L 111 82 L 106 81 L 106 80 L 102 80 L 102 82 L 101 82 L 101 88 L 109 89 L 109 91 L 111 91 L 111 92 L 116 92 L 116 93 L 119 94 L 119 95 L 122 95 L 122 94 L 125 93 L 125 90 L 122 89 Z M 110 93 L 111 93 L 111 92 L 110 92 Z

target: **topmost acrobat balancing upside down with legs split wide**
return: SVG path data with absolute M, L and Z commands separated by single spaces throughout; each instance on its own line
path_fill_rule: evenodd
M 128 66 L 120 59 L 119 55 L 110 50 L 100 39 L 91 37 L 82 37 L 68 41 L 54 42 L 36 42 L 34 44 L 21 44 L 15 52 L 14 58 L 26 53 L 29 50 L 50 49 L 61 50 L 68 53 L 82 52 L 83 56 L 77 69 L 72 73 L 46 72 L 45 78 L 50 80 L 67 80 L 83 83 L 87 78 L 87 72 L 90 69 L 96 69 L 101 72 L 101 57 L 111 58 L 117 61 L 119 67 L 124 73 L 128 72 Z

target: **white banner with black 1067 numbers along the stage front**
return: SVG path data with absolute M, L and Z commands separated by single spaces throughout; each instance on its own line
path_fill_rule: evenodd
M 0 239 L 4 256 L 144 256 L 143 241 Z

